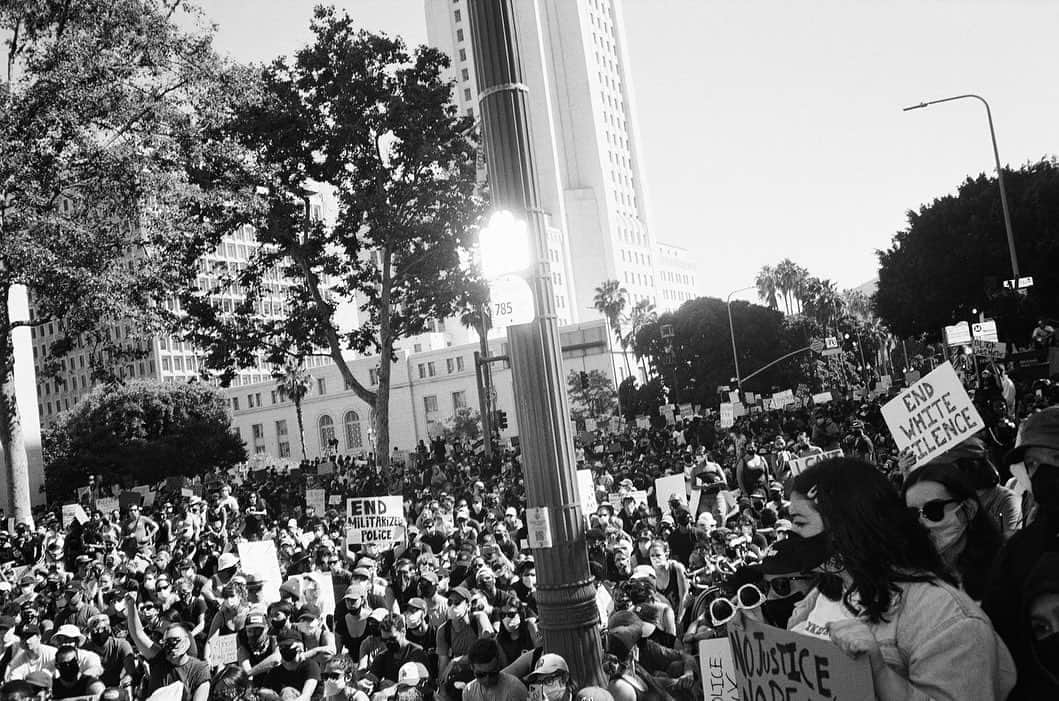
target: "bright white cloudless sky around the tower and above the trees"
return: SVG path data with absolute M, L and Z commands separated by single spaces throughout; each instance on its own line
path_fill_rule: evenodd
M 202 4 L 218 47 L 243 60 L 309 38 L 311 0 Z M 337 4 L 366 29 L 426 41 L 423 0 Z M 993 169 L 980 103 L 901 107 L 976 92 L 1002 162 L 1059 152 L 1054 0 L 624 4 L 648 223 L 692 251 L 703 293 L 723 298 L 783 257 L 860 285 L 905 211 Z

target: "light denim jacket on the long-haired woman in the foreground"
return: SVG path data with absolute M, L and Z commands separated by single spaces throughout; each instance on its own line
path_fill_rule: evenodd
M 1015 687 L 1015 662 L 989 618 L 945 582 L 900 582 L 885 619 L 867 624 L 882 657 L 909 680 L 909 701 L 1003 701 Z M 788 628 L 804 621 L 815 589 L 794 607 Z

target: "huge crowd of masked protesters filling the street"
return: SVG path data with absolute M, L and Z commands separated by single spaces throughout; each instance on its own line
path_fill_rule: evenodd
M 392 472 L 317 459 L 106 514 L 93 486 L 84 522 L 0 532 L 0 694 L 701 699 L 698 641 L 742 610 L 866 658 L 878 699 L 1059 698 L 1059 397 L 1004 380 L 975 388 L 987 429 L 915 470 L 885 395 L 582 436 L 605 686 L 543 648 L 518 450 L 438 441 Z M 676 474 L 684 493 L 659 503 Z M 318 513 L 307 487 L 341 499 Z M 341 501 L 390 493 L 407 539 L 349 550 Z M 277 597 L 239 559 L 253 541 L 275 544 Z M 233 634 L 234 662 L 208 662 Z

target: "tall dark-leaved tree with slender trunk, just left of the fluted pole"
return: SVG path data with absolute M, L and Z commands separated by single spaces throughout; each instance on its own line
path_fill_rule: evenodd
M 473 282 L 461 263 L 482 210 L 473 124 L 452 106 L 449 59 L 439 51 L 409 52 L 401 39 L 358 31 L 333 8 L 318 7 L 311 29 L 313 42 L 265 69 L 261 89 L 217 134 L 241 151 L 199 176 L 235 202 L 214 239 L 250 224 L 263 247 L 219 283 L 246 292 L 232 313 L 187 290 L 187 330 L 221 371 L 261 352 L 282 365 L 323 348 L 345 384 L 374 406 L 385 470 L 394 344 L 465 308 Z M 330 188 L 337 220 L 315 220 L 307 199 Z M 257 306 L 276 274 L 298 282 L 283 293 L 280 319 Z M 343 300 L 362 312 L 354 329 L 335 318 Z M 379 354 L 376 390 L 354 376 L 351 352 Z

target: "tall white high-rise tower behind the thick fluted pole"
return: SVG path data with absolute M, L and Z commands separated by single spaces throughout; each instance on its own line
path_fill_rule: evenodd
M 455 104 L 477 116 L 467 0 L 425 2 L 428 41 L 452 58 Z M 560 323 L 594 316 L 605 280 L 630 304 L 659 304 L 621 0 L 513 5 Z

